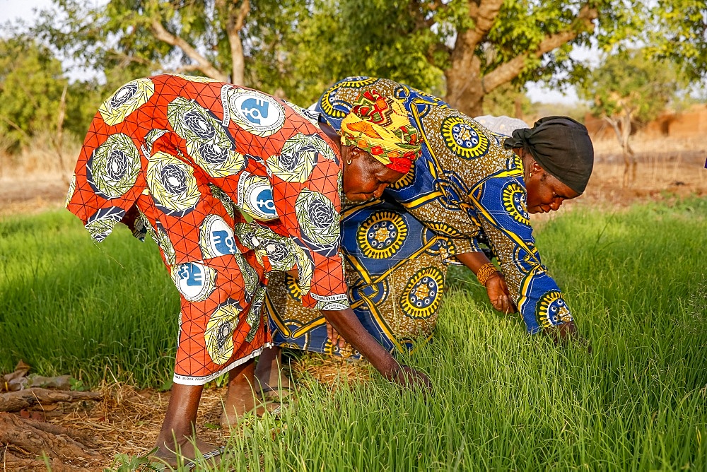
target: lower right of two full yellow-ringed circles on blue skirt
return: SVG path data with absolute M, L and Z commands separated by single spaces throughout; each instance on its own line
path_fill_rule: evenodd
M 415 273 L 405 285 L 400 307 L 408 317 L 429 318 L 437 312 L 442 300 L 444 275 L 436 267 L 425 267 Z

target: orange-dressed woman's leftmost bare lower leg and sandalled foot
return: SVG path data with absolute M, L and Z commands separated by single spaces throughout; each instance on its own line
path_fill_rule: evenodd
M 201 454 L 216 449 L 213 445 L 196 439 L 194 428 L 203 389 L 203 385 L 173 384 L 167 414 L 157 438 L 158 450 L 155 453 L 155 456 L 172 466 L 177 464 L 175 453 L 194 459 L 194 442 Z

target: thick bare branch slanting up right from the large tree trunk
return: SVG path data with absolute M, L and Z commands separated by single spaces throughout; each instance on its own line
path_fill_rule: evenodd
M 567 30 L 545 37 L 534 51 L 519 54 L 487 73 L 481 81 L 484 85 L 484 91 L 489 93 L 499 85 L 508 83 L 513 78 L 518 77 L 522 70 L 525 69 L 525 61 L 531 54 L 534 57 L 541 57 L 543 54 L 575 39 L 580 33 L 593 31 L 595 28 L 593 20 L 597 16 L 598 13 L 595 8 L 590 8 L 588 5 L 583 6 L 577 18 L 568 25 Z

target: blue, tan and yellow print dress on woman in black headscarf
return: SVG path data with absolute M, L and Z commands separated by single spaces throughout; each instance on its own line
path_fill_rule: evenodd
M 489 131 L 439 98 L 382 78 L 345 78 L 322 94 L 316 110 L 339 129 L 356 97 L 374 89 L 384 97 L 402 100 L 424 140 L 421 158 L 403 179 L 385 190 L 383 201 L 347 208 L 345 213 L 344 253 L 350 269 L 347 276 L 352 280 L 349 298 L 364 326 L 389 348 L 409 348 L 409 340 L 416 336 L 430 338 L 439 307 L 438 297 L 431 294 L 441 294 L 445 264 L 458 264 L 455 254 L 480 251 L 479 240 L 493 249 L 530 333 L 571 320 L 558 286 L 535 249 L 522 163 L 513 151 L 503 148 L 506 136 Z M 392 202 L 399 206 L 392 207 Z M 380 212 L 390 208 L 397 217 L 378 222 Z M 356 218 L 355 224 L 348 218 Z M 416 259 L 395 264 L 390 258 L 373 257 L 388 256 L 395 248 L 402 237 L 399 220 L 416 220 L 420 225 L 415 229 L 408 225 L 407 230 L 406 244 L 414 245 L 409 254 Z M 370 230 L 361 232 L 364 227 Z M 411 237 L 428 232 L 438 238 L 434 256 L 423 250 L 433 237 Z M 365 285 L 363 293 L 369 295 L 357 296 L 356 283 Z M 292 290 L 271 283 L 269 292 L 286 302 L 283 294 Z M 391 293 L 397 302 L 390 302 Z M 359 300 L 366 301 L 358 304 Z M 286 310 L 275 305 L 268 305 L 274 343 L 310 346 L 322 352 L 317 330 L 324 321 L 296 305 Z M 420 320 L 418 324 L 407 321 L 411 314 Z

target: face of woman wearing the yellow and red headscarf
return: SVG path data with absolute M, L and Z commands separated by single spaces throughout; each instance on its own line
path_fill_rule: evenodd
M 404 177 L 359 148 L 350 148 L 349 158 L 351 164 L 344 166 L 344 195 L 351 201 L 378 199 L 385 187 Z

